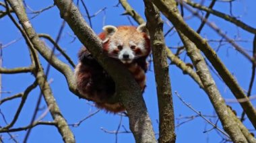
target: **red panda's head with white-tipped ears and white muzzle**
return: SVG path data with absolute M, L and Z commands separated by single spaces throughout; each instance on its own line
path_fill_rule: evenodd
M 123 63 L 131 63 L 136 58 L 146 57 L 150 54 L 150 38 L 146 25 L 134 26 L 104 26 L 102 39 L 103 50 L 112 58 Z

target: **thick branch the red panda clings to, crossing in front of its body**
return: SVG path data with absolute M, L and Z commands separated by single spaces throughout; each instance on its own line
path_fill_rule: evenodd
M 61 17 L 67 21 L 77 38 L 88 48 L 94 58 L 113 77 L 117 95 L 121 98 L 129 115 L 129 123 L 137 142 L 156 142 L 146 105 L 141 97 L 139 85 L 131 73 L 121 64 L 103 54 L 100 39 L 88 26 L 71 0 L 55 0 Z

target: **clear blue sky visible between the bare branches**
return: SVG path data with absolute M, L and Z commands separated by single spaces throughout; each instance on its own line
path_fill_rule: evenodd
M 113 25 L 113 26 L 121 26 L 121 25 L 131 25 L 127 16 L 121 15 L 124 12 L 123 7 L 119 5 L 119 7 L 113 7 L 113 5 L 117 5 L 118 1 L 88 1 L 86 0 L 86 6 L 90 11 L 90 14 L 96 13 L 100 9 L 106 7 L 106 11 L 98 13 L 96 17 L 92 18 L 92 28 L 96 34 L 99 34 L 102 31 L 102 26 L 104 25 Z M 143 16 L 143 1 L 129 1 L 132 7 Z M 209 5 L 210 1 L 205 1 L 205 5 Z M 53 1 L 44 0 L 40 1 L 32 1 L 27 0 L 26 4 L 29 5 L 33 10 L 39 10 L 49 5 L 53 5 Z M 256 15 L 255 15 L 255 7 L 256 1 L 253 0 L 241 0 L 235 1 L 232 3 L 232 13 L 235 16 L 238 16 L 238 19 L 245 21 L 250 26 L 256 26 Z M 82 4 L 80 3 L 80 9 L 84 15 L 86 15 Z M 228 3 L 217 3 L 214 8 L 228 13 L 229 14 L 229 4 Z M 0 8 L 3 10 L 3 7 Z M 30 12 L 29 9 L 27 9 Z M 185 11 L 185 15 L 191 15 L 189 12 Z M 29 17 L 33 17 L 33 14 L 28 14 Z M 85 17 L 86 18 L 86 17 Z M 143 16 L 145 19 L 145 16 Z M 164 21 L 166 21 L 165 17 L 162 17 Z M 86 21 L 88 19 L 86 18 Z M 137 23 L 131 19 L 132 23 L 137 26 Z M 248 34 L 247 32 L 241 30 L 241 28 L 236 28 L 231 23 L 228 23 L 218 17 L 210 16 L 210 21 L 214 21 L 216 25 L 230 38 L 237 37 L 241 40 L 248 40 L 248 42 L 238 42 L 240 46 L 247 50 L 252 50 L 252 40 L 253 35 Z M 59 28 L 61 26 L 62 19 L 59 16 L 59 9 L 57 7 L 53 7 L 47 11 L 44 11 L 34 19 L 31 19 L 32 26 L 36 30 L 38 34 L 45 33 L 52 36 L 52 38 L 56 38 L 59 32 Z M 197 30 L 199 27 L 200 21 L 196 17 L 192 19 L 188 19 L 187 23 L 189 26 Z M 168 26 L 164 26 L 164 30 L 168 30 Z M 11 23 L 9 17 L 3 17 L 0 19 L 0 43 L 5 45 L 12 40 L 16 40 L 18 38 L 22 38 L 22 35 L 18 31 L 17 28 Z M 172 32 L 173 33 L 173 32 Z M 66 24 L 65 29 L 63 31 L 63 35 L 59 42 L 59 45 L 67 52 L 67 54 L 72 58 L 72 60 L 77 63 L 77 52 L 79 48 L 81 48 L 82 44 L 76 38 L 73 42 L 73 32 Z M 207 26 L 203 28 L 201 32 L 201 36 L 207 38 L 208 40 L 220 40 L 221 38 L 214 32 L 210 30 Z M 46 44 L 52 48 L 52 44 L 48 41 L 44 40 Z M 166 44 L 168 46 L 177 47 L 181 46 L 181 42 L 177 33 L 169 34 L 166 36 Z M 210 43 L 212 48 L 217 48 L 218 43 Z M 175 50 L 173 50 L 175 52 Z M 250 53 L 251 54 L 251 53 Z M 218 51 L 218 55 L 230 70 L 230 72 L 236 77 L 238 83 L 243 87 L 243 89 L 247 90 L 249 87 L 249 81 L 251 79 L 251 63 L 244 56 L 236 52 L 230 46 L 230 44 L 225 44 L 221 46 Z M 181 54 L 181 59 L 185 59 L 185 62 L 190 62 L 189 58 L 186 57 L 186 54 Z M 186 58 L 185 58 L 186 57 Z M 63 56 L 59 56 L 63 62 L 67 62 Z M 42 65 L 46 68 L 47 62 L 44 58 L 40 57 Z M 29 66 L 30 65 L 30 57 L 28 53 L 28 47 L 24 42 L 24 39 L 11 44 L 7 48 L 3 48 L 3 67 L 5 68 L 15 68 L 20 66 Z M 153 70 L 153 66 L 152 66 Z M 234 96 L 226 87 L 226 85 L 216 77 L 216 75 L 212 74 L 214 79 L 216 79 L 216 85 L 220 90 L 220 93 L 225 99 L 234 99 Z M 93 113 L 97 109 L 95 107 L 90 106 L 90 102 L 85 99 L 78 99 L 77 96 L 73 95 L 73 93 L 69 92 L 67 83 L 65 82 L 65 78 L 61 75 L 55 68 L 51 68 L 51 72 L 49 74 L 49 79 L 53 80 L 51 83 L 52 91 L 55 96 L 55 99 L 66 118 L 69 124 L 74 124 L 79 122 L 84 117 L 88 116 L 90 113 Z M 215 115 L 214 109 L 210 104 L 210 101 L 205 95 L 205 93 L 199 89 L 199 86 L 188 76 L 183 75 L 182 71 L 174 66 L 170 65 L 170 79 L 172 85 L 172 93 L 173 93 L 173 102 L 174 102 L 174 113 L 176 117 L 187 117 L 191 115 L 196 115 L 183 105 L 181 101 L 174 95 L 174 91 L 177 91 L 187 103 L 190 103 L 195 109 L 201 111 L 204 115 Z M 34 77 L 30 74 L 18 74 L 18 75 L 2 75 L 2 91 L 10 91 L 11 93 L 3 93 L 1 98 L 8 97 L 14 95 L 15 93 L 23 92 L 28 85 L 34 82 Z M 256 84 L 256 83 L 255 83 Z M 253 86 L 252 95 L 256 95 L 255 90 L 256 85 Z M 18 119 L 18 122 L 13 126 L 13 128 L 18 128 L 22 126 L 26 126 L 30 123 L 30 119 L 32 117 L 32 113 L 34 111 L 34 107 L 36 105 L 36 100 L 38 98 L 40 91 L 38 87 L 30 93 L 24 109 L 22 109 L 22 113 Z M 143 94 L 143 97 L 146 101 L 146 105 L 148 107 L 148 111 L 150 113 L 150 117 L 152 120 L 152 124 L 154 126 L 154 130 L 158 132 L 158 103 L 156 98 L 156 85 L 154 80 L 154 71 L 148 71 L 147 73 L 147 87 L 146 91 Z M 5 115 L 7 122 L 11 122 L 13 119 L 13 115 L 20 103 L 20 99 L 14 99 L 9 101 L 8 103 L 3 103 L 0 106 L 1 112 Z M 253 101 L 253 105 L 256 102 Z M 233 109 L 236 109 L 238 115 L 241 115 L 241 107 L 238 103 L 229 103 Z M 38 115 L 41 115 L 46 107 L 44 101 L 41 103 L 42 110 Z M 76 128 L 72 128 L 71 130 L 75 134 L 75 139 L 77 142 L 115 142 L 114 134 L 107 134 L 101 130 L 104 128 L 106 130 L 117 130 L 117 126 L 120 122 L 119 115 L 113 115 L 110 113 L 105 113 L 104 111 L 100 111 L 93 117 L 90 117 L 88 120 L 83 122 L 80 126 Z M 44 121 L 52 120 L 51 115 L 48 113 L 46 117 L 44 117 Z M 216 122 L 216 118 L 210 118 L 212 122 Z M 123 117 L 122 126 L 124 126 L 127 130 L 129 130 L 129 120 L 127 117 Z M 175 120 L 176 124 L 183 122 L 184 120 Z M 250 129 L 253 129 L 250 126 L 248 120 L 245 121 L 245 124 Z M 220 126 L 220 124 L 218 124 Z M 3 117 L 0 116 L 0 126 L 5 126 L 5 122 L 3 121 Z M 179 128 L 176 128 L 177 134 L 177 142 L 220 142 L 222 140 L 221 136 L 216 132 L 216 130 L 212 130 L 210 132 L 203 133 L 205 130 L 210 130 L 212 127 L 210 124 L 206 124 L 205 121 L 197 117 L 191 122 L 187 122 Z M 124 129 L 121 128 L 121 131 Z M 11 133 L 15 136 L 15 138 L 22 142 L 24 140 L 25 131 L 22 132 L 14 132 Z M 9 136 L 7 134 L 2 134 L 5 142 L 12 142 L 9 140 Z M 156 135 L 158 138 L 158 136 Z M 118 135 L 119 142 L 135 142 L 132 134 L 119 134 Z M 59 135 L 57 128 L 52 126 L 37 126 L 33 128 L 32 133 L 28 142 L 62 142 L 61 136 Z

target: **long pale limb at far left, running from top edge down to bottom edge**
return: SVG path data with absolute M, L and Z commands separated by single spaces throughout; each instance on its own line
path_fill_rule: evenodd
M 24 28 L 24 31 L 26 32 L 32 45 L 36 49 L 39 49 L 40 46 L 43 48 L 46 48 L 44 43 L 42 41 L 40 41 L 36 32 L 32 28 L 32 25 L 30 24 L 30 21 L 28 20 L 28 17 L 24 10 L 22 1 L 8 0 L 8 2 L 10 3 L 11 7 L 15 11 L 15 14 L 17 15 L 20 23 L 22 24 L 22 27 Z M 46 104 L 49 107 L 49 111 L 51 112 L 51 115 L 56 122 L 57 129 L 59 130 L 59 132 L 63 138 L 63 141 L 75 142 L 73 133 L 69 129 L 69 126 L 67 125 L 67 122 L 65 121 L 65 118 L 63 117 L 63 115 L 61 115 L 61 111 L 60 111 L 57 103 L 55 102 L 55 98 L 53 97 L 53 94 L 51 92 L 51 87 L 49 86 L 49 83 L 47 83 L 46 76 L 44 75 L 42 66 L 39 63 L 38 56 L 37 56 L 36 52 L 34 52 L 34 49 L 32 47 L 30 47 L 30 51 L 32 53 L 34 53 L 32 56 L 32 59 L 36 60 L 38 62 L 36 70 L 33 71 L 33 74 L 36 77 L 36 84 L 39 85 L 39 87 L 42 91 L 42 94 L 44 95 L 44 100 L 46 101 Z M 51 53 L 49 56 L 51 56 Z M 62 62 L 60 64 L 62 64 Z M 65 66 L 65 64 L 62 64 L 62 65 Z

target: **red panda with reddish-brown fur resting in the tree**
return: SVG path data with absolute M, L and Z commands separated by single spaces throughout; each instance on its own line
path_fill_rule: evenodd
M 146 58 L 151 52 L 150 38 L 146 25 L 134 26 L 104 26 L 99 34 L 104 53 L 109 57 L 120 60 L 133 74 L 135 81 L 141 87 L 146 87 Z M 108 99 L 115 95 L 115 82 L 93 58 L 92 54 L 83 47 L 78 54 L 79 63 L 75 68 L 77 89 L 86 99 L 95 102 L 96 107 L 117 113 L 124 111 L 122 103 L 110 103 Z

